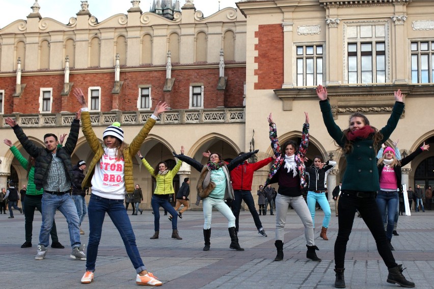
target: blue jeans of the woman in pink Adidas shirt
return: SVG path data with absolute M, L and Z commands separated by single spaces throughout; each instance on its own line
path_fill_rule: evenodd
M 382 219 L 386 216 L 387 207 L 387 229 L 386 237 L 387 239 L 392 239 L 393 224 L 395 222 L 396 208 L 398 207 L 399 198 L 398 192 L 387 192 L 379 190 L 376 198 L 376 203 Z

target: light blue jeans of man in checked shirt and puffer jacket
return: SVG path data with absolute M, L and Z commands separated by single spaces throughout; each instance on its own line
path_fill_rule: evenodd
M 77 208 L 69 193 L 54 195 L 44 192 L 42 195 L 42 225 L 39 233 L 39 244 L 48 247 L 54 215 L 59 210 L 66 218 L 69 229 L 69 240 L 72 248 L 78 248 L 80 242 L 80 219 Z

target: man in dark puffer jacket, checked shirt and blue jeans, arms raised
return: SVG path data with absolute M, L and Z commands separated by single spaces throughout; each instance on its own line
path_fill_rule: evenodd
M 38 253 L 35 260 L 42 260 L 47 253 L 50 230 L 56 210 L 65 216 L 68 222 L 69 239 L 72 252 L 69 255 L 73 259 L 86 260 L 85 245 L 80 242 L 80 220 L 74 201 L 69 194 L 71 190 L 73 174 L 71 154 L 77 144 L 80 129 L 81 110 L 75 114 L 71 123 L 68 139 L 64 147 L 59 147 L 59 141 L 55 134 L 44 135 L 45 148 L 37 147 L 23 132 L 16 121 L 6 118 L 5 123 L 14 130 L 24 150 L 36 159 L 35 179 L 36 189 L 44 188 L 42 195 L 42 225 L 39 234 Z

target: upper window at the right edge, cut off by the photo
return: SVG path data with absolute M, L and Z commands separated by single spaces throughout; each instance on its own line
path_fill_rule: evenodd
M 412 83 L 434 82 L 434 41 L 411 43 Z

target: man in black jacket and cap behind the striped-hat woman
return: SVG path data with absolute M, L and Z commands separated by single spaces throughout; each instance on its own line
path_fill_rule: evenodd
M 84 170 L 86 169 L 86 162 L 84 160 L 78 161 L 74 166 L 72 173 L 74 179 L 72 180 L 72 199 L 74 200 L 75 207 L 77 208 L 78 218 L 80 219 L 80 235 L 84 235 L 85 231 L 82 230 L 82 222 L 88 213 L 88 206 L 86 205 L 86 190 L 82 188 L 82 182 L 85 179 Z

